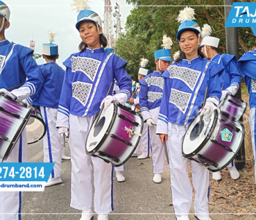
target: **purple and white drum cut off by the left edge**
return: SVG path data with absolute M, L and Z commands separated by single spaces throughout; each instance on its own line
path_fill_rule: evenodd
M 6 160 L 23 132 L 31 107 L 0 94 L 0 158 Z

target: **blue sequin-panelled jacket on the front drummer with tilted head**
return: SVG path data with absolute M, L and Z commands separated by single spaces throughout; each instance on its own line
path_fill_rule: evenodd
M 67 67 L 59 101 L 57 126 L 69 127 L 69 114 L 91 116 L 99 112 L 102 99 L 108 94 L 115 80 L 119 91 L 115 95 L 124 105 L 132 88 L 131 76 L 125 69 L 127 61 L 103 48 L 72 54 L 64 66 Z M 113 86 L 110 90 L 113 94 Z

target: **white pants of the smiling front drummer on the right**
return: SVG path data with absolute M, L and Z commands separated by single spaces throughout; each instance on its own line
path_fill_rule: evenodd
M 195 189 L 195 213 L 208 216 L 208 194 L 210 172 L 197 162 L 189 161 L 182 155 L 182 142 L 188 128 L 168 124 L 167 151 L 170 160 L 170 183 L 175 213 L 187 216 L 192 204 L 192 186 L 189 181 L 189 162 L 192 167 L 192 183 Z

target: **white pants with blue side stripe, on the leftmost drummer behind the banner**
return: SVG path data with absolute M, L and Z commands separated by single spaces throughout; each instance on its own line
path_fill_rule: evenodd
M 26 128 L 23 130 L 10 156 L 4 162 L 27 162 Z M 0 219 L 19 220 L 21 210 L 21 191 L 0 191 Z M 10 215 L 4 215 L 8 213 Z

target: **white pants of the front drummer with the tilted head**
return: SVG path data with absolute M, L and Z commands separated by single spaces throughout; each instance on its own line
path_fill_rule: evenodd
M 69 115 L 69 147 L 71 153 L 72 208 L 88 210 L 92 202 L 91 162 L 94 167 L 94 210 L 110 213 L 113 210 L 113 167 L 98 157 L 86 154 L 86 139 L 94 116 Z

